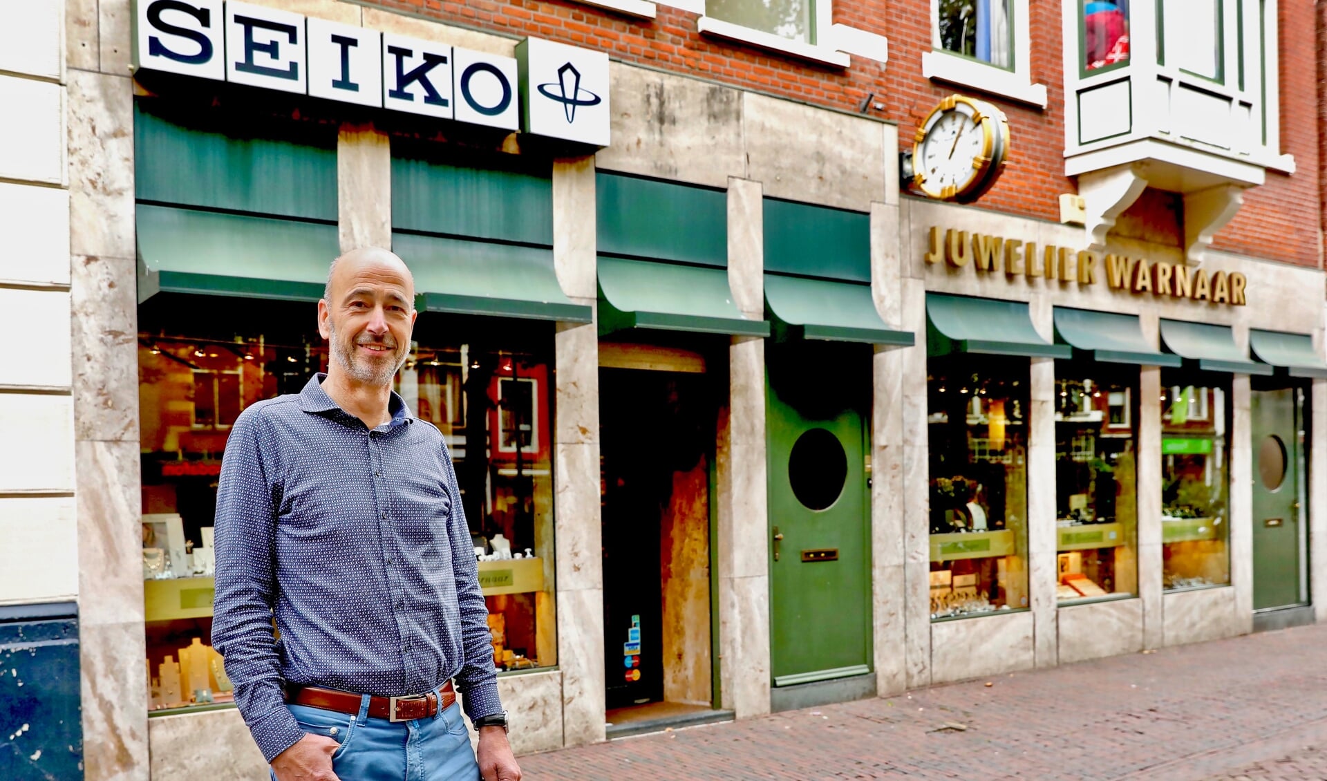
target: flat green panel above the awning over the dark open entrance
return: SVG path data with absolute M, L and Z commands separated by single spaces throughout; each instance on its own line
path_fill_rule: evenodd
M 594 200 L 601 255 L 729 265 L 729 196 L 722 190 L 600 171 Z

